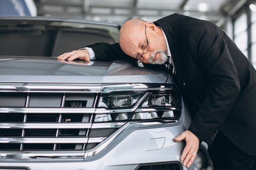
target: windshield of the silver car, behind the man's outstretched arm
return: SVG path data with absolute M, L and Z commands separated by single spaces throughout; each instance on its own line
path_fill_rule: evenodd
M 96 42 L 115 43 L 116 24 L 0 19 L 0 55 L 58 56 Z

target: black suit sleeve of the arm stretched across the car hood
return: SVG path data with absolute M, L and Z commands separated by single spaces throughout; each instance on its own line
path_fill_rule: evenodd
M 126 55 L 120 48 L 119 43 L 108 44 L 104 42 L 88 45 L 95 53 L 96 60 L 114 61 L 114 60 L 134 60 Z

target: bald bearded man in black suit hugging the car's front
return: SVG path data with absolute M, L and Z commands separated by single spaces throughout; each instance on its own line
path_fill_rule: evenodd
M 171 56 L 169 63 L 193 117 L 189 129 L 175 138 L 186 141 L 183 165 L 191 166 L 201 140 L 209 145 L 215 170 L 255 170 L 256 70 L 218 26 L 179 14 L 154 23 L 135 19 L 121 27 L 119 44 L 88 47 L 58 59 L 130 56 L 154 67 Z

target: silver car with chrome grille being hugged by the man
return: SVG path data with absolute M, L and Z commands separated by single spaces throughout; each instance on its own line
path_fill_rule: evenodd
M 191 117 L 172 77 L 135 61 L 56 60 L 115 43 L 119 29 L 0 17 L 0 170 L 194 169 L 174 141 Z

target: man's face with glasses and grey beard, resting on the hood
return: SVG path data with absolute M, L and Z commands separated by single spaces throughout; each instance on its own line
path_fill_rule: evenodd
M 157 29 L 157 27 L 154 28 Z M 166 62 L 166 42 L 164 36 L 158 33 L 159 30 L 156 31 L 149 26 L 139 30 L 125 29 L 120 31 L 119 39 L 124 53 L 143 63 L 164 64 Z

